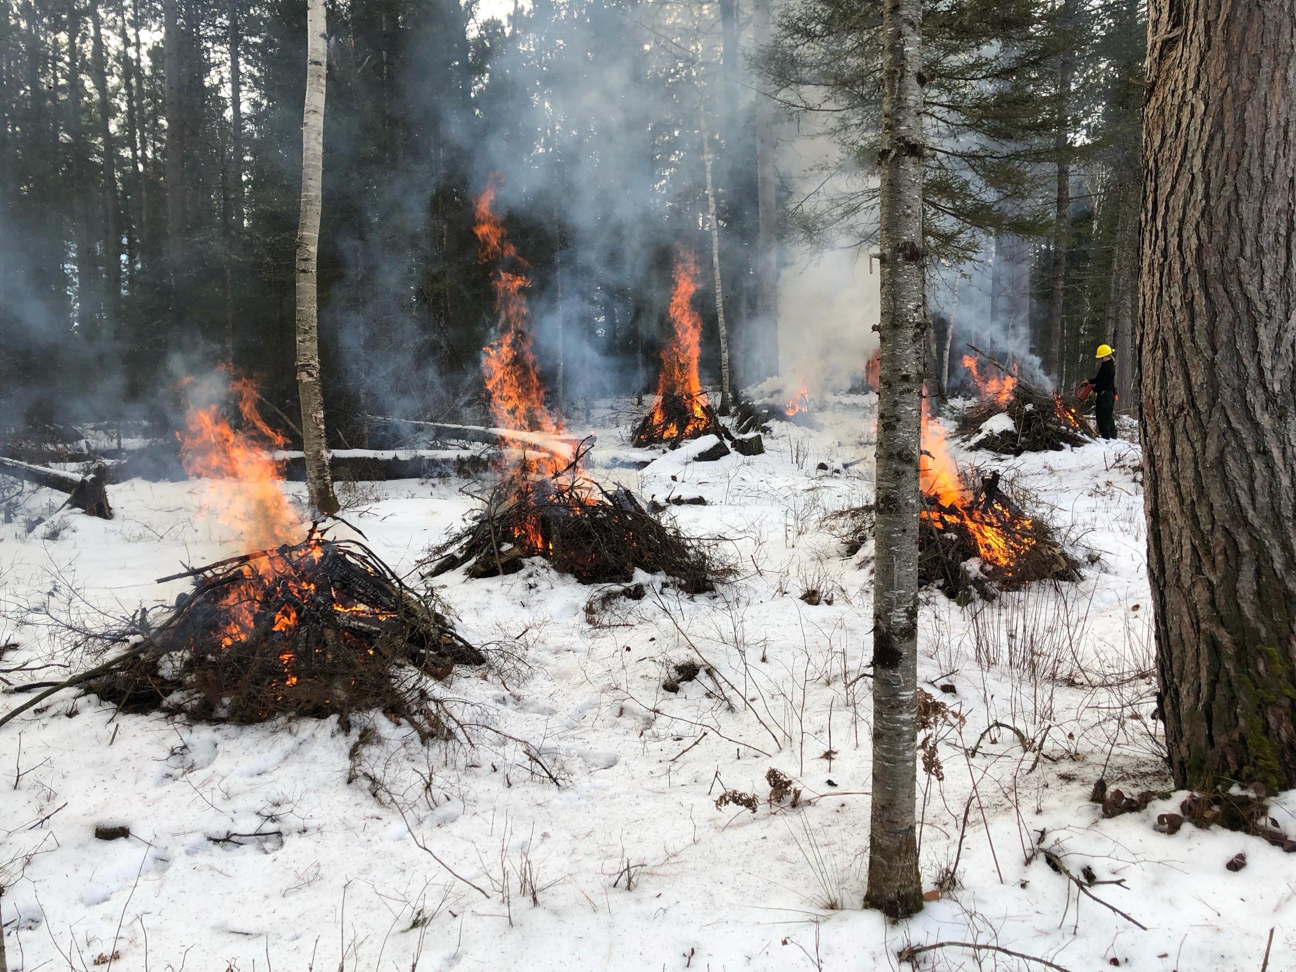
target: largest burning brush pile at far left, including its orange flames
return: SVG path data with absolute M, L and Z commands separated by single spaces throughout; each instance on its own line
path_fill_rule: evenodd
M 191 476 L 209 477 L 209 509 L 249 552 L 162 578 L 194 579 L 163 618 L 139 613 L 135 647 L 92 691 L 131 712 L 240 723 L 378 710 L 435 735 L 425 677 L 483 656 L 365 546 L 314 526 L 298 539 L 255 389 L 232 388 L 242 428 L 218 403 L 191 407 L 181 457 Z

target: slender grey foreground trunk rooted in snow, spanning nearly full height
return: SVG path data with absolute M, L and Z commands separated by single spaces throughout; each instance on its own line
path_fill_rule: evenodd
M 912 915 L 923 907 L 914 819 L 919 459 L 927 347 L 921 67 L 921 0 L 883 4 L 879 153 L 883 354 L 876 452 L 874 783 L 864 903 L 892 918 Z

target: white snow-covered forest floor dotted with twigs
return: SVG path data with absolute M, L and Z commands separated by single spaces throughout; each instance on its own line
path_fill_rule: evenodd
M 645 577 L 645 599 L 590 612 L 600 591 L 539 561 L 439 578 L 463 634 L 513 658 L 443 686 L 496 730 L 473 745 L 424 748 L 384 718 L 358 745 L 362 727 L 333 721 L 188 724 L 57 696 L 0 728 L 9 968 L 106 966 L 115 950 L 114 968 L 216 972 L 874 969 L 907 967 L 907 943 L 971 942 L 1076 972 L 1188 972 L 1260 968 L 1270 928 L 1269 968 L 1296 967 L 1293 858 L 1227 831 L 1156 832 L 1182 793 L 1113 819 L 1089 801 L 1100 775 L 1131 794 L 1170 785 L 1150 718 L 1137 446 L 960 454 L 1029 489 L 1085 572 L 993 604 L 925 596 L 920 679 L 947 708 L 923 734 L 923 883 L 936 889 L 955 861 L 958 880 L 897 924 L 861 910 L 871 573 L 824 518 L 871 496 L 872 397 L 820 403 L 822 430 L 780 425 L 763 456 L 670 455 L 643 470 L 630 413 L 621 403 L 619 426 L 594 429 L 592 474 L 704 496 L 669 516 L 715 539 L 731 582 L 689 597 Z M 464 485 L 347 486 L 347 520 L 410 572 L 473 509 Z M 26 511 L 52 500 L 35 494 Z M 185 587 L 154 578 L 240 552 L 203 515 L 201 482 L 132 481 L 111 500 L 111 522 L 65 513 L 29 535 L 19 511 L 0 526 L 0 645 L 17 643 L 0 660 L 5 692 L 64 671 L 13 671 L 25 665 L 83 664 L 49 629 L 21 626 L 25 609 L 130 614 Z M 811 588 L 818 604 L 801 599 Z M 715 675 L 664 689 L 687 658 Z M 0 696 L 0 713 L 29 697 Z M 771 767 L 801 788 L 794 809 L 767 801 Z M 754 793 L 757 811 L 718 810 L 724 789 Z M 1293 809 L 1273 809 L 1288 833 Z M 131 836 L 97 840 L 105 824 Z M 1081 881 L 1091 868 L 1086 890 L 1128 918 L 1037 848 Z M 1245 868 L 1226 870 L 1238 851 Z M 966 947 L 916 962 L 1043 967 Z

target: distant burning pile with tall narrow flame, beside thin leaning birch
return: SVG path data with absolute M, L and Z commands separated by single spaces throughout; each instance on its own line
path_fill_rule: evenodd
M 693 308 L 697 273 L 693 251 L 677 250 L 669 310 L 671 337 L 661 350 L 657 402 L 634 434 L 636 446 L 695 439 L 717 430 L 697 373 L 702 347 L 702 319 Z

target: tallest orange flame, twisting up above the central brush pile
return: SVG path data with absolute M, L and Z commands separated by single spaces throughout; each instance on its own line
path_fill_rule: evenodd
M 491 176 L 473 206 L 478 259 L 496 264 L 491 284 L 500 333 L 482 349 L 482 378 L 486 381 L 491 416 L 502 429 L 561 432 L 561 422 L 544 406 L 544 382 L 531 346 L 525 293 L 531 285 L 527 276 L 530 264 L 518 255 L 503 219 L 491 209 L 499 185 L 499 176 Z

